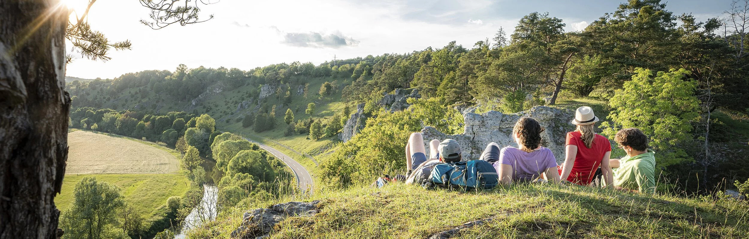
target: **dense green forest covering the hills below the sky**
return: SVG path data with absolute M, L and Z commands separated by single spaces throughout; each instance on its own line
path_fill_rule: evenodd
M 406 54 L 319 65 L 279 63 L 247 71 L 180 65 L 174 72 L 149 70 L 111 81 L 73 81 L 66 88 L 73 96 L 74 110 L 112 108 L 152 115 L 192 111 L 192 115 L 217 117 L 219 125 L 241 122 L 255 132 L 285 125 L 286 136 L 308 134 L 309 140 L 337 134 L 351 107 L 366 103 L 366 114 L 375 120 L 367 122 L 358 139 L 324 155 L 328 160 L 321 164 L 324 181 L 344 186 L 352 178 L 364 180 L 402 167 L 403 155 L 395 150 L 402 150 L 405 142 L 397 140 L 422 125 L 461 133 L 454 130 L 460 128 L 454 120 L 459 115 L 455 108 L 514 113 L 536 105 L 557 105 L 560 99 L 599 99 L 607 102 L 610 111 L 601 134 L 642 128 L 659 152 L 661 175 L 674 187 L 697 192 L 724 180 L 749 178 L 749 158 L 743 153 L 749 149 L 747 134 L 715 117 L 719 112 L 736 117 L 749 114 L 745 68 L 749 27 L 742 24 L 749 19 L 742 5 L 727 8 L 725 19 L 698 22 L 688 13 L 669 11 L 664 2 L 633 0 L 583 31 L 565 32 L 562 19 L 529 13 L 511 33 L 500 28 L 491 40 L 478 41 L 470 48 L 451 42 Z M 321 85 L 319 91 L 310 87 L 315 82 Z M 380 111 L 377 102 L 396 88 L 419 89 L 422 113 Z M 243 102 L 257 107 L 240 111 L 243 108 L 237 105 Z M 345 102 L 346 106 L 315 119 L 315 105 L 326 102 Z M 436 114 L 436 120 L 428 112 Z M 73 114 L 74 127 L 91 128 L 96 123 L 97 127 L 117 128 L 109 121 L 98 123 L 98 116 L 89 122 Z M 116 124 L 118 118 L 113 119 Z M 417 122 L 410 121 L 414 119 Z M 151 122 L 146 126 L 142 121 L 141 128 L 153 128 L 148 132 L 138 130 L 141 122 L 128 122 L 134 125 L 133 133 L 125 135 L 177 143 L 171 132 L 165 137 L 166 131 L 161 131 L 166 129 L 166 120 Z M 174 130 L 182 134 L 185 128 Z M 379 131 L 388 128 L 397 129 L 388 131 L 392 137 L 387 137 L 396 140 L 386 140 L 376 149 L 365 145 L 385 137 Z M 195 147 L 211 155 L 209 146 Z M 357 165 L 372 167 L 357 170 Z

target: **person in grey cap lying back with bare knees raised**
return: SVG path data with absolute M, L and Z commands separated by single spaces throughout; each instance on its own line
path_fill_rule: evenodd
M 429 152 L 431 157 L 427 159 L 422 134 L 411 134 L 406 144 L 406 165 L 409 167 L 406 184 L 421 184 L 426 181 L 434 165 L 461 161 L 461 146 L 452 139 L 441 143 L 439 140 L 431 140 Z

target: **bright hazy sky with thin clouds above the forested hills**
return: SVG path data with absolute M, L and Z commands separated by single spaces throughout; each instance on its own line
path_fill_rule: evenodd
M 113 42 L 130 40 L 132 49 L 112 49 L 112 60 L 103 62 L 82 58 L 68 43 L 74 60 L 66 75 L 115 78 L 148 69 L 174 71 L 181 63 L 243 70 L 294 61 L 317 65 L 334 57 L 437 49 L 453 40 L 470 49 L 500 27 L 512 34 L 528 13 L 548 12 L 564 21 L 565 31 L 579 31 L 624 0 L 210 1 L 201 6 L 201 19 L 210 14 L 213 19 L 160 30 L 139 22 L 148 20 L 150 11 L 137 1 L 96 1 L 88 13 L 91 28 Z M 676 15 L 691 13 L 703 21 L 730 7 L 730 0 L 665 2 Z

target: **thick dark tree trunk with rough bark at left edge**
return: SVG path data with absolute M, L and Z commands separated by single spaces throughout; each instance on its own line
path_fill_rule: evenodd
M 0 238 L 57 238 L 70 96 L 67 8 L 0 1 Z

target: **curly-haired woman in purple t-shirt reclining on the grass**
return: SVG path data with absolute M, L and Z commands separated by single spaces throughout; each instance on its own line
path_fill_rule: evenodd
M 546 179 L 559 183 L 557 159 L 551 149 L 541 146 L 541 133 L 544 128 L 530 117 L 522 117 L 512 128 L 512 137 L 518 148 L 506 146 L 500 150 L 497 143 L 489 143 L 481 158 L 494 164 L 500 175 L 500 183 L 513 181 L 534 181 Z

